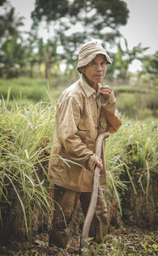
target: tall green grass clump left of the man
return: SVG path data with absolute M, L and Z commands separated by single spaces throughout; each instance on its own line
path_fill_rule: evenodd
M 51 210 L 47 188 L 47 171 L 51 138 L 54 131 L 55 106 L 40 102 L 25 108 L 0 108 L 0 221 L 4 212 L 18 212 L 24 217 L 31 236 L 34 206 L 43 214 Z M 15 207 L 16 205 L 16 207 Z M 36 216 L 35 216 L 36 217 Z

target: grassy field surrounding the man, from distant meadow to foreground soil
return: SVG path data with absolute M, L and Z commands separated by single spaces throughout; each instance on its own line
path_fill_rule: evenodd
M 9 237 L 10 245 L 17 248 L 15 252 L 8 246 L 9 255 L 77 255 L 77 230 L 83 221 L 80 208 L 70 248 L 56 248 L 53 254 L 47 248 L 53 211 L 47 164 L 55 104 L 71 82 L 66 78 L 49 82 L 40 78 L 0 81 L 2 255 L 6 255 Z M 158 91 L 145 85 L 113 89 L 123 124 L 106 145 L 109 235 L 104 244 L 90 245 L 85 255 L 156 255 Z M 15 242 L 21 237 L 33 241 L 27 243 L 27 249 L 24 239 Z M 72 246 L 76 249 L 72 250 Z

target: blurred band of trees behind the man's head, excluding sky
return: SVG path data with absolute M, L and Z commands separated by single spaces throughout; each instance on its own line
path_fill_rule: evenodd
M 32 31 L 26 33 L 20 30 L 24 18 L 17 17 L 8 1 L 1 2 L 0 78 L 21 75 L 54 78 L 63 75 L 63 70 L 64 75 L 71 78 L 76 73 L 77 51 L 81 44 L 85 40 L 99 38 L 105 48 L 118 48 L 116 53 L 109 52 L 113 60 L 107 73 L 110 81 L 116 78 L 117 83 L 127 84 L 130 79 L 129 65 L 138 59 L 143 63 L 143 69 L 137 77 L 145 79 L 150 85 L 157 84 L 157 52 L 145 56 L 148 47 L 142 48 L 141 44 L 129 49 L 126 39 L 119 33 L 119 26 L 126 25 L 128 19 L 126 2 L 74 0 L 64 3 L 36 1 L 32 12 L 34 26 Z M 43 20 L 47 21 L 48 29 L 55 28 L 53 36 L 47 40 L 38 36 L 38 25 Z M 75 24 L 82 29 L 70 32 Z M 124 48 L 121 41 L 124 41 Z

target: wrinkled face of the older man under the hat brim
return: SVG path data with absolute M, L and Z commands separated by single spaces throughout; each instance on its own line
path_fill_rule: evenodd
M 88 82 L 95 88 L 99 82 L 103 81 L 107 71 L 107 61 L 102 54 L 96 55 L 87 66 L 80 68 L 81 73 L 85 74 Z

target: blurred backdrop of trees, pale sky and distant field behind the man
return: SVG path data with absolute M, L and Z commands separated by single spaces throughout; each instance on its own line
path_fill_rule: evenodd
M 56 101 L 79 78 L 81 44 L 97 39 L 113 62 L 104 82 L 119 110 L 157 117 L 157 7 L 156 0 L 1 0 L 0 93 L 6 98 L 9 90 L 10 104 L 13 97 Z

